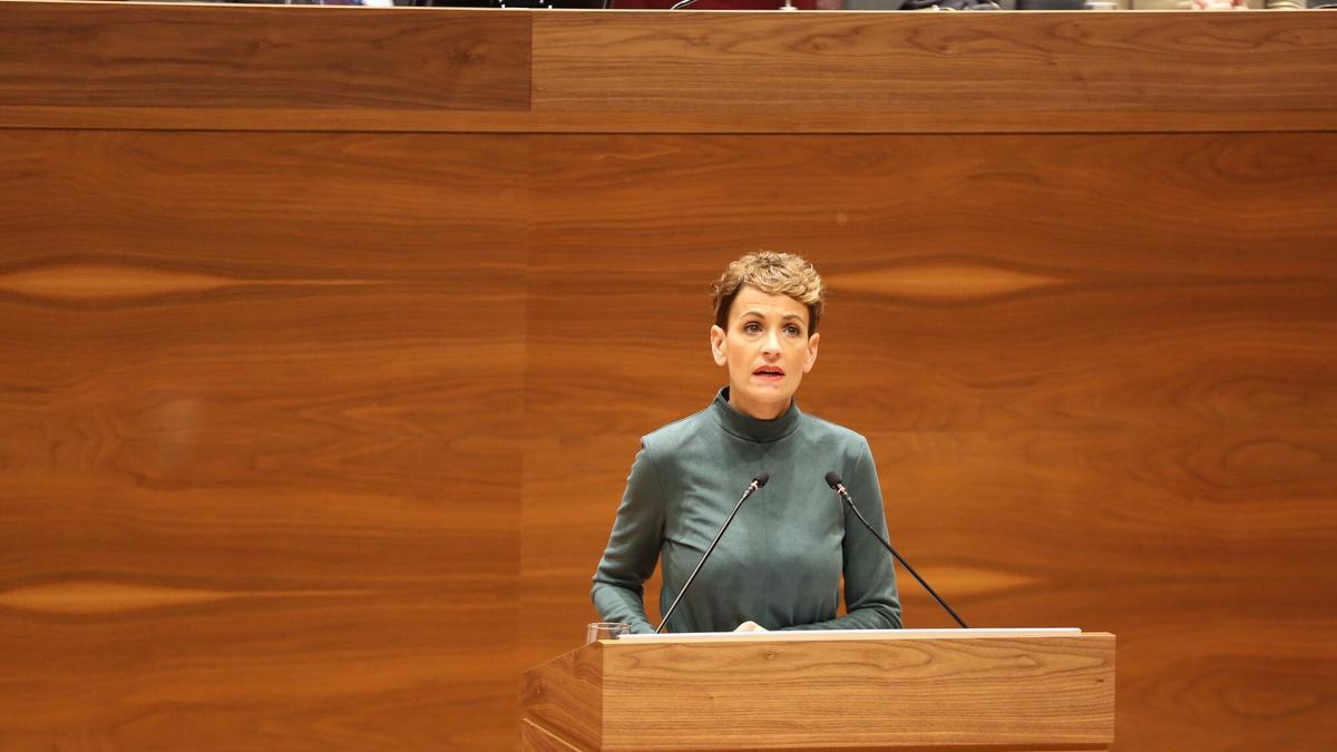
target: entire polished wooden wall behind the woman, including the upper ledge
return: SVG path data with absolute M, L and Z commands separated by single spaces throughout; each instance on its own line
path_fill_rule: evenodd
M 1337 737 L 1337 16 L 693 17 L 5 4 L 0 747 L 515 745 L 759 248 L 972 625 Z

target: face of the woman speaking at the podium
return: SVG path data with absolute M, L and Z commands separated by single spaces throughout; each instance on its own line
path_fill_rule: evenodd
M 804 373 L 817 360 L 817 335 L 808 333 L 808 306 L 745 285 L 729 306 L 729 331 L 710 328 L 715 363 L 729 368 L 729 403 L 770 420 L 789 407 Z

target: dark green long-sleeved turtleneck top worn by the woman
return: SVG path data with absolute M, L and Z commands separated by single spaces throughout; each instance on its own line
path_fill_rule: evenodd
M 702 412 L 644 436 L 594 575 L 604 621 L 654 632 L 642 583 L 663 562 L 660 614 L 678 595 L 747 483 L 753 494 L 678 605 L 666 632 L 901 626 L 890 554 L 826 486 L 836 471 L 868 522 L 886 534 L 868 442 L 805 415 L 798 404 L 758 420 L 729 404 L 729 389 Z M 836 618 L 841 578 L 848 614 Z

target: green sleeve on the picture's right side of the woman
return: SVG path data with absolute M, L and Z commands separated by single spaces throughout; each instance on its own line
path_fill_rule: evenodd
M 845 478 L 845 487 L 849 488 L 868 523 L 886 537 L 886 514 L 882 510 L 882 492 L 873 452 L 866 442 L 860 450 Z M 828 621 L 794 625 L 790 629 L 900 629 L 901 602 L 896 590 L 892 555 L 848 507 L 845 507 L 845 541 L 841 554 L 846 614 Z

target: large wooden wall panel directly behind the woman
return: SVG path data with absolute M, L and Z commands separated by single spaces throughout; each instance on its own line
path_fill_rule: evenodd
M 893 538 L 972 624 L 1119 634 L 1120 748 L 1332 731 L 1332 134 L 536 146 L 527 660 L 592 617 L 638 438 L 722 383 L 709 281 L 781 248 L 832 285 L 805 409 L 869 436 Z

